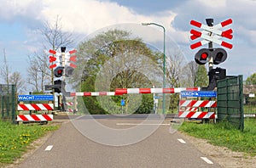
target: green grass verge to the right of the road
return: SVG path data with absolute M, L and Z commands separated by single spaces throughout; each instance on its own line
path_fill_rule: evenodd
M 256 120 L 244 120 L 244 131 L 232 129 L 226 123 L 197 124 L 184 122 L 179 131 L 190 136 L 207 139 L 208 143 L 230 148 L 233 151 L 256 155 Z

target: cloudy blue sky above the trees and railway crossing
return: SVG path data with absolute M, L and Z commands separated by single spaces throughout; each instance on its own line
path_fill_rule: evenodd
M 244 80 L 256 72 L 256 0 L 0 0 L 0 3 L 0 63 L 3 65 L 5 50 L 12 72 L 19 71 L 25 79 L 28 55 L 42 49 L 43 39 L 38 30 L 45 21 L 54 23 L 57 15 L 61 17 L 62 30 L 81 39 L 111 25 L 142 22 L 163 25 L 166 36 L 177 43 L 188 60 L 194 60 L 200 49 L 190 49 L 194 41 L 190 40 L 189 32 L 202 31 L 190 25 L 190 20 L 206 25 L 205 20 L 212 18 L 217 25 L 232 19 L 233 23 L 221 31 L 231 28 L 233 39 L 220 40 L 232 43 L 233 48 L 225 48 L 228 59 L 218 66 L 225 68 L 228 76 L 243 75 Z M 223 48 L 218 44 L 213 46 Z M 3 83 L 1 78 L 0 83 Z

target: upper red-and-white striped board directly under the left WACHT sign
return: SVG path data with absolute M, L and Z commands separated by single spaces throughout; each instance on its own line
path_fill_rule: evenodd
M 18 110 L 54 110 L 54 104 L 18 104 Z

